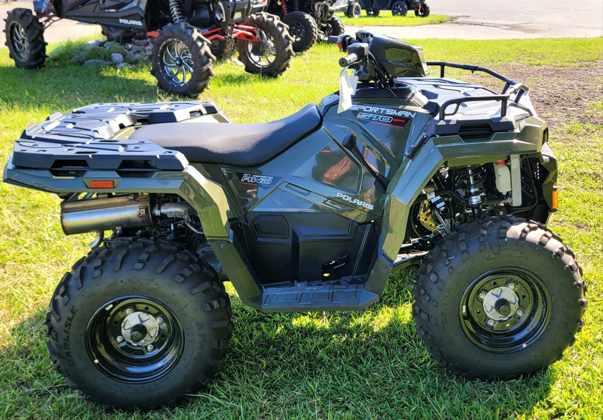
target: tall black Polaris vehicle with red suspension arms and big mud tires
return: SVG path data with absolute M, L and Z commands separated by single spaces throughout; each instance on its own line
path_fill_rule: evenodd
M 213 61 L 230 55 L 235 42 L 245 71 L 253 74 L 277 77 L 295 55 L 286 25 L 253 13 L 251 0 L 39 0 L 34 8 L 35 14 L 16 8 L 5 19 L 10 57 L 25 69 L 44 66 L 43 32 L 61 18 L 102 25 L 109 39 L 121 42 L 137 33 L 154 37 L 151 73 L 176 95 L 203 92 Z

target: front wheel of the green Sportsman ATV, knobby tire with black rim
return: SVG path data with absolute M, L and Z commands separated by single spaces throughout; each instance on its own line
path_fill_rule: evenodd
M 544 225 L 509 216 L 461 225 L 418 269 L 417 333 L 457 375 L 510 380 L 541 371 L 584 325 L 581 276 L 573 252 Z

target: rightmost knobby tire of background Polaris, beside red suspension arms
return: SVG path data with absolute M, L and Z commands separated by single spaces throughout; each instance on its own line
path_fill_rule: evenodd
M 270 36 L 274 46 L 274 60 L 264 63 L 260 57 L 254 58 L 255 49 L 259 42 L 239 40 L 236 49 L 239 51 L 239 61 L 244 64 L 245 71 L 251 74 L 261 74 L 268 77 L 278 77 L 289 67 L 289 61 L 295 57 L 293 39 L 287 32 L 287 26 L 280 21 L 278 16 L 260 12 L 252 14 L 245 25 L 257 27 Z

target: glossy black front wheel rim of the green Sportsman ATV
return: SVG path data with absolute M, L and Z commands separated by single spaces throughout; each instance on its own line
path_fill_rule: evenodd
M 545 332 L 551 320 L 551 296 L 532 272 L 496 268 L 467 287 L 459 316 L 464 333 L 476 346 L 493 353 L 513 353 Z

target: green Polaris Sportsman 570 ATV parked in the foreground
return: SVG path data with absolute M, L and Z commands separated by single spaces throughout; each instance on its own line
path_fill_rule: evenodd
M 411 263 L 418 336 L 456 374 L 511 379 L 562 357 L 586 285 L 546 227 L 557 160 L 528 87 L 378 34 L 334 40 L 352 78 L 278 121 L 94 104 L 16 140 L 4 181 L 62 198 L 66 234 L 96 232 L 46 317 L 70 386 L 109 407 L 175 404 L 229 349 L 223 281 L 262 312 L 359 310 Z

